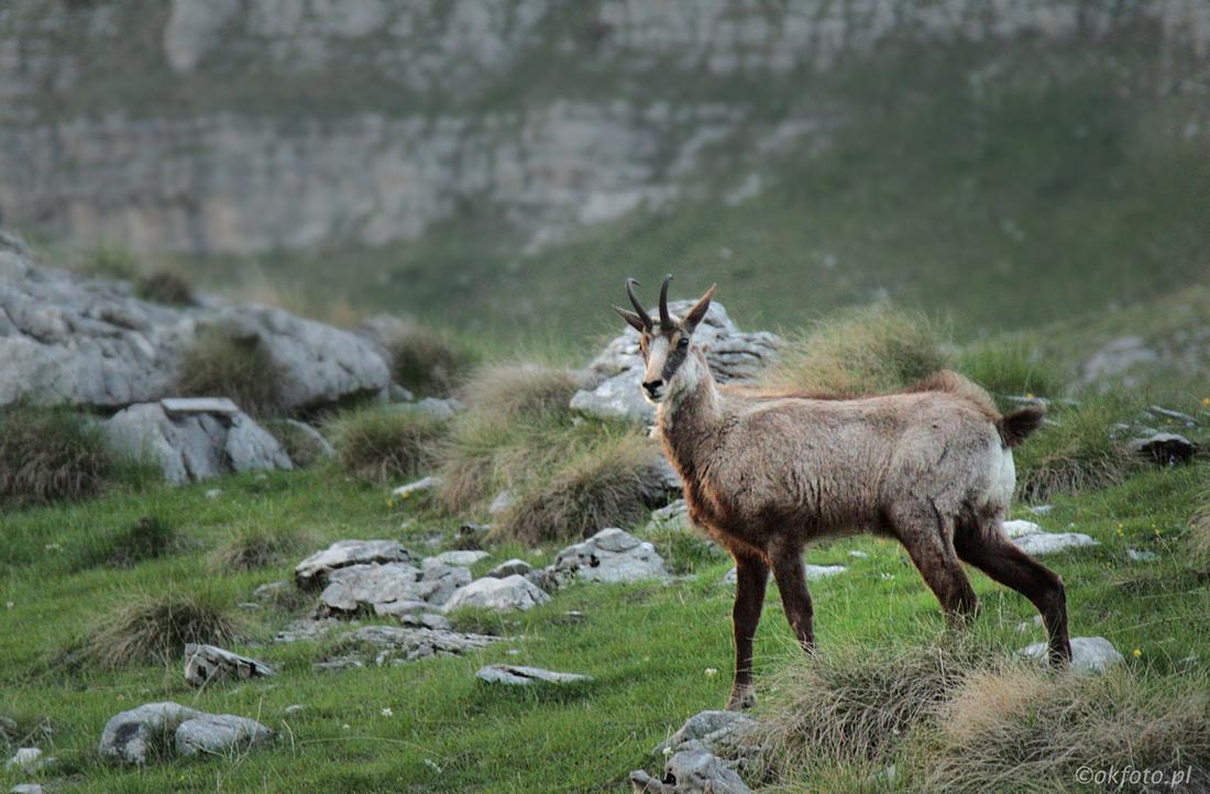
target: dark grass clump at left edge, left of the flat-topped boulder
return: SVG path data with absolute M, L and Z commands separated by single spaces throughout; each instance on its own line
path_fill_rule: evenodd
M 117 466 L 100 430 L 65 408 L 0 407 L 0 505 L 27 507 L 100 494 Z

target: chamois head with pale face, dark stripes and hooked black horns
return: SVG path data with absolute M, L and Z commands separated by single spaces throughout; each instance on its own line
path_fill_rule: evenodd
M 653 403 L 663 402 L 673 393 L 673 381 L 688 356 L 693 332 L 710 307 L 710 298 L 714 297 L 714 287 L 710 287 L 684 320 L 676 320 L 668 313 L 668 282 L 672 280 L 672 274 L 664 276 L 664 283 L 659 287 L 658 326 L 634 294 L 634 286 L 639 283 L 634 278 L 626 280 L 626 294 L 629 295 L 634 311 L 613 306 L 613 311 L 622 315 L 622 318 L 639 332 L 639 349 L 646 363 L 643 396 Z

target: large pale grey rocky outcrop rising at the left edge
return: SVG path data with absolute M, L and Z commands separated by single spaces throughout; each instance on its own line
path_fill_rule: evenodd
M 0 237 L 0 404 L 116 409 L 178 396 L 184 356 L 200 334 L 254 346 L 271 370 L 273 402 L 288 410 L 391 382 L 382 356 L 357 334 L 270 306 L 139 300 L 122 281 L 38 267 L 18 240 Z

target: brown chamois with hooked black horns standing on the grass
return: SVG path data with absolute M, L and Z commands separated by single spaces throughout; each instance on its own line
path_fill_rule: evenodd
M 1015 485 L 1010 448 L 1042 424 L 1028 405 L 1001 415 L 986 392 L 943 372 L 915 389 L 855 399 L 720 389 L 693 330 L 714 287 L 684 320 L 659 289 L 658 324 L 626 281 L 639 332 L 644 396 L 685 483 L 690 519 L 736 560 L 736 674 L 727 708 L 753 694 L 753 635 L 772 570 L 785 616 L 814 648 L 802 552 L 816 539 L 855 533 L 898 540 L 951 625 L 978 602 L 958 560 L 1025 596 L 1042 614 L 1049 661 L 1071 661 L 1062 580 L 1003 533 Z

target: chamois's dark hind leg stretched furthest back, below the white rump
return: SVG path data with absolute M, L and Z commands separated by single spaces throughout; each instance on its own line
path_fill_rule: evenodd
M 1062 579 L 1008 540 L 1001 529 L 1002 519 L 1003 514 L 997 513 L 961 522 L 953 548 L 960 559 L 1030 599 L 1047 627 L 1050 664 L 1066 667 L 1071 662 L 1071 639 Z

